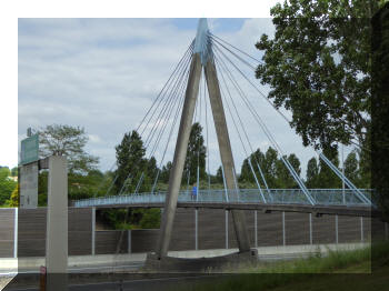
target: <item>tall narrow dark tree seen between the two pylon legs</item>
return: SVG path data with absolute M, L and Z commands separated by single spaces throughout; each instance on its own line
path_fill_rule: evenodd
M 207 178 L 206 173 L 206 152 L 205 139 L 202 137 L 202 127 L 200 123 L 193 123 L 190 130 L 187 158 L 183 168 L 182 182 L 187 183 L 188 174 L 189 183 L 197 181 L 197 169 L 199 167 L 199 178 L 203 180 Z

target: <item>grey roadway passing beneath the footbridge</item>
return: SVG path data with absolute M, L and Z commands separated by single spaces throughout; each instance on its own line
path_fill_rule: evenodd
M 329 250 L 355 250 L 365 248 L 368 243 L 339 243 L 339 244 L 303 244 L 258 248 L 259 260 L 263 262 L 279 260 L 295 260 L 321 253 L 326 255 Z M 180 258 L 199 258 L 227 254 L 238 251 L 229 250 L 202 250 L 202 251 L 173 251 L 169 255 Z M 34 275 L 43 258 L 30 258 L 29 264 L 36 263 L 36 268 L 24 270 L 21 275 Z M 70 257 L 69 263 L 69 290 L 171 290 L 172 287 L 186 289 L 188 285 L 205 282 L 206 280 L 220 280 L 223 274 L 207 273 L 142 273 L 140 271 L 146 260 L 146 253 L 119 254 L 119 255 L 82 255 Z M 103 263 L 106 261 L 106 263 Z M 0 277 L 11 275 L 0 271 Z M 14 275 L 14 274 L 13 274 Z M 230 274 L 229 274 L 230 275 Z M 36 291 L 36 283 L 28 282 L 23 277 L 19 282 L 13 282 L 6 290 Z M 121 289 L 120 289 L 121 288 Z

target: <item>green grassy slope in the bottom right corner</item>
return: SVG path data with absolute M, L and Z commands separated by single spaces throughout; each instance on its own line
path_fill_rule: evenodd
M 371 274 L 371 265 L 379 269 Z M 259 263 L 238 270 L 223 270 L 231 275 L 210 283 L 186 287 L 192 291 L 248 290 L 388 290 L 389 243 L 373 244 L 353 251 L 329 251 L 328 255 L 311 255 L 287 262 Z M 352 274 L 350 274 L 352 273 Z M 356 274 L 358 273 L 358 274 Z

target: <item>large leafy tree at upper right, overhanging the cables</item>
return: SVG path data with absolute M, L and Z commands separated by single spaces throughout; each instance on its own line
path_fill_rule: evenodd
M 275 38 L 256 44 L 263 63 L 256 76 L 269 99 L 292 112 L 305 146 L 357 141 L 369 147 L 370 17 L 377 1 L 285 1 L 270 13 Z

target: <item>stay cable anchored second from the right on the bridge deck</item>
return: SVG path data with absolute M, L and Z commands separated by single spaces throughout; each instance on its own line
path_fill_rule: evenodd
M 289 170 L 289 172 L 291 173 L 291 175 L 295 178 L 295 180 L 297 181 L 297 183 L 299 184 L 299 187 L 301 188 L 302 192 L 306 194 L 308 201 L 311 204 L 315 204 L 315 200 L 312 199 L 312 197 L 310 195 L 308 189 L 306 188 L 306 185 L 303 184 L 303 182 L 301 181 L 301 179 L 298 177 L 298 174 L 296 173 L 295 169 L 291 167 L 291 164 L 289 163 L 288 160 L 286 160 L 283 158 L 283 152 L 281 150 L 281 148 L 279 147 L 279 144 L 277 143 L 277 141 L 272 138 L 272 134 L 270 133 L 270 131 L 268 130 L 268 128 L 266 127 L 265 122 L 262 121 L 262 119 L 259 117 L 258 112 L 255 110 L 255 108 L 252 107 L 250 100 L 246 97 L 246 94 L 243 93 L 243 91 L 241 90 L 241 88 L 239 87 L 239 84 L 235 81 L 233 77 L 231 76 L 231 72 L 229 71 L 228 67 L 226 66 L 226 63 L 223 62 L 222 59 L 220 59 L 220 57 L 218 57 L 218 59 L 221 61 L 221 63 L 225 66 L 226 71 L 230 74 L 231 77 L 231 81 L 232 83 L 237 84 L 237 88 L 239 88 L 238 92 L 239 96 L 242 98 L 242 100 L 245 101 L 245 104 L 247 106 L 247 108 L 249 109 L 249 111 L 252 113 L 252 116 L 255 117 L 256 121 L 259 123 L 259 126 L 261 127 L 263 133 L 268 137 L 269 141 L 271 143 L 273 143 L 273 146 L 279 150 L 279 152 L 281 153 L 281 160 L 285 163 L 285 165 L 287 167 L 287 169 Z M 228 59 L 228 58 L 227 58 Z M 229 60 L 229 59 L 228 59 Z M 229 60 L 230 61 L 230 60 Z M 230 61 L 231 62 L 231 61 Z

